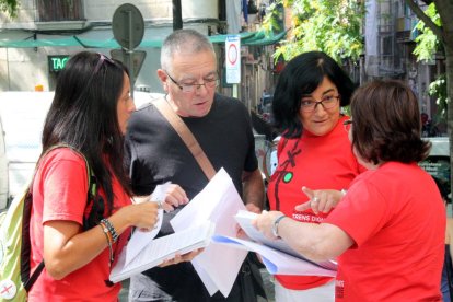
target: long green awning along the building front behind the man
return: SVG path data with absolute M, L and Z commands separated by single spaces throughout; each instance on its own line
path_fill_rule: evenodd
M 259 32 L 244 32 L 240 33 L 241 37 L 241 45 L 252 45 L 252 46 L 260 46 L 260 45 L 271 45 L 278 43 L 281 38 L 284 37 L 287 32 L 282 32 L 279 34 L 269 34 L 266 35 L 263 31 Z M 224 43 L 229 35 L 214 35 L 209 36 L 209 39 L 213 44 L 221 44 Z M 159 48 L 162 46 L 162 39 L 143 39 L 139 47 L 140 48 L 149 48 L 154 47 Z M 9 40 L 9 39 L 0 39 L 0 48 L 32 48 L 32 47 L 70 47 L 70 46 L 81 46 L 83 48 L 105 48 L 105 49 L 115 49 L 121 48 L 119 44 L 114 39 L 105 39 L 105 40 L 97 40 L 97 39 L 89 39 L 89 38 L 81 38 L 78 36 L 71 36 L 67 38 L 28 38 L 24 40 Z

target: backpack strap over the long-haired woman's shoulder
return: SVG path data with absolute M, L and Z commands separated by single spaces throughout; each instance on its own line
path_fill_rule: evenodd
M 83 155 L 82 152 L 79 150 L 76 150 L 73 147 L 65 143 L 56 144 L 47 149 L 38 159 L 35 165 L 35 171 L 33 172 L 33 177 L 31 183 L 28 184 L 28 187 L 26 189 L 26 196 L 24 197 L 24 208 L 23 208 L 23 214 L 22 214 L 22 234 L 27 234 L 27 236 L 23 236 L 23 244 L 21 246 L 21 281 L 24 284 L 24 289 L 26 292 L 28 292 L 33 284 L 36 282 L 37 278 L 43 272 L 43 269 L 45 267 L 44 259 L 39 263 L 39 265 L 36 267 L 36 269 L 33 271 L 32 275 L 30 275 L 31 267 L 30 267 L 30 254 L 31 254 L 31 239 L 30 239 L 30 220 L 32 216 L 32 204 L 33 204 L 33 193 L 32 193 L 32 186 L 36 176 L 36 172 L 39 167 L 40 161 L 53 150 L 58 148 L 69 148 L 73 151 L 76 151 L 78 154 L 80 154 L 83 160 L 85 161 L 86 165 L 86 173 L 88 173 L 88 184 L 89 184 L 89 191 L 88 191 L 88 200 L 86 204 L 90 202 L 90 196 L 96 194 L 96 183 L 94 181 L 94 174 L 93 171 L 90 169 L 89 162 Z

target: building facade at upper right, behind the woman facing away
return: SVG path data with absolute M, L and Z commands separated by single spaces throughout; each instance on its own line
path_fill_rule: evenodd
M 413 54 L 418 35 L 418 18 L 405 0 L 369 0 L 364 20 L 363 81 L 393 78 L 406 81 L 419 100 L 421 114 L 428 121 L 439 123 L 434 97 L 428 94 L 429 84 L 445 72 L 444 58 L 417 61 Z M 422 10 L 423 2 L 419 1 Z M 446 135 L 444 123 L 439 123 L 437 135 Z

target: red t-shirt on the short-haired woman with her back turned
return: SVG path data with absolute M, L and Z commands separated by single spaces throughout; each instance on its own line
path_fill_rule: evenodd
M 356 243 L 338 257 L 336 301 L 441 301 L 445 220 L 435 183 L 417 164 L 361 174 L 324 221 Z

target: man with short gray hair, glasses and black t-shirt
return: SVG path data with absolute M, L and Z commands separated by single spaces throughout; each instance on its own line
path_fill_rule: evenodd
M 264 184 L 255 155 L 251 119 L 244 104 L 216 93 L 219 84 L 212 44 L 193 30 L 173 32 L 163 43 L 158 77 L 165 100 L 198 140 L 216 171 L 223 167 L 246 208 L 260 212 Z M 173 232 L 169 221 L 208 184 L 208 178 L 182 139 L 150 104 L 129 120 L 126 136 L 132 191 L 149 195 L 166 182 L 179 185 L 175 210 L 164 214 L 158 236 Z M 219 255 L 220 256 L 220 255 Z M 247 274 L 248 276 L 245 276 Z M 245 276 L 245 277 L 244 277 Z M 255 276 L 255 278 L 251 278 Z M 245 283 L 245 280 L 252 280 Z M 210 297 L 190 263 L 155 267 L 131 278 L 130 301 L 256 301 L 259 271 L 246 260 L 228 298 Z M 244 290 L 247 288 L 248 290 Z M 248 295 L 247 295 L 248 293 Z

